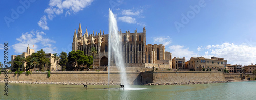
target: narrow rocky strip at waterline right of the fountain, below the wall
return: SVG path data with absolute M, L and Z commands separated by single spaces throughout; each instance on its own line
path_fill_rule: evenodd
M 181 82 L 181 83 L 148 83 L 144 85 L 192 85 L 192 84 L 209 84 L 209 83 L 226 83 L 230 81 L 211 81 L 211 82 Z

